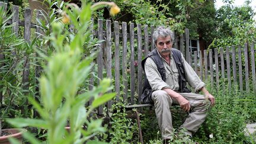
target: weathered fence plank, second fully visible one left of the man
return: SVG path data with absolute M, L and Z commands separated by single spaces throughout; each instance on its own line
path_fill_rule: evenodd
M 130 91 L 131 91 L 131 104 L 134 104 L 135 95 L 135 37 L 134 37 L 134 24 L 130 23 Z

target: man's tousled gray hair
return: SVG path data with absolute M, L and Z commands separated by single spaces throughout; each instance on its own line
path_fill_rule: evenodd
M 159 37 L 167 37 L 167 36 L 171 37 L 171 42 L 174 41 L 173 32 L 170 30 L 170 28 L 169 27 L 165 28 L 164 26 L 160 26 L 156 28 L 155 31 L 153 32 L 153 41 L 154 43 L 156 43 L 156 40 Z

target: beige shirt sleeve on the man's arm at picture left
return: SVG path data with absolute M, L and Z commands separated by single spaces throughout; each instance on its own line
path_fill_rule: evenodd
M 169 88 L 169 85 L 165 83 L 160 73 L 158 72 L 155 62 L 149 57 L 145 62 L 145 73 L 148 78 L 149 84 L 153 91 L 161 90 L 162 88 Z

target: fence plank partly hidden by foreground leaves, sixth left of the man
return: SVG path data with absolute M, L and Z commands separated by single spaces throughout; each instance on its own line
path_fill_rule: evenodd
M 98 19 L 98 40 L 103 40 L 103 20 Z M 100 80 L 103 79 L 103 42 L 99 44 L 97 47 L 98 49 L 98 57 L 97 57 L 97 64 L 98 64 L 98 85 L 100 84 Z M 98 114 L 103 114 L 103 105 L 98 107 Z

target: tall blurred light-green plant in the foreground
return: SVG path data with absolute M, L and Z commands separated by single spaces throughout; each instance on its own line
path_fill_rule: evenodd
M 91 6 L 82 1 L 81 9 L 74 4 L 59 4 L 65 6 L 59 9 L 62 17 L 53 17 L 50 23 L 52 33 L 44 37 L 54 50 L 50 56 L 37 50 L 39 55 L 47 60 L 47 66 L 44 66 L 44 73 L 39 79 L 40 103 L 33 97 L 28 98 L 41 119 L 8 119 L 8 122 L 17 127 L 47 129 L 47 143 L 84 143 L 98 132 L 105 131 L 101 127 L 102 120 L 89 119 L 89 113 L 115 95 L 106 93 L 112 88 L 110 79 L 103 79 L 92 91 L 78 93 L 91 72 L 92 60 L 95 57 L 93 52 L 84 59 L 82 55 L 84 50 L 89 50 L 85 44 L 94 41 L 89 29 L 91 13 L 105 5 L 116 7 L 116 4 L 102 2 Z M 69 31 L 69 21 L 72 21 L 77 31 Z M 91 98 L 94 98 L 94 101 L 87 109 L 84 104 Z M 65 130 L 67 121 L 70 126 L 69 133 Z M 85 129 L 82 129 L 83 125 Z M 25 133 L 24 137 L 30 143 L 40 143 L 30 133 Z

